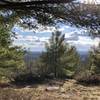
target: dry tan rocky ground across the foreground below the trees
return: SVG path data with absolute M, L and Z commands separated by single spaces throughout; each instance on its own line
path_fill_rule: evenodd
M 56 80 L 25 87 L 6 87 L 0 88 L 0 100 L 100 100 L 100 86 Z

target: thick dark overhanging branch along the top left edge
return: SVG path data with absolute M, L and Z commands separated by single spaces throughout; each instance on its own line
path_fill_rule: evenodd
M 9 8 L 9 9 L 23 9 L 30 8 L 33 6 L 47 5 L 47 4 L 60 4 L 60 3 L 69 3 L 74 0 L 36 0 L 36 1 L 27 1 L 27 2 L 11 2 L 6 0 L 0 1 L 0 8 Z

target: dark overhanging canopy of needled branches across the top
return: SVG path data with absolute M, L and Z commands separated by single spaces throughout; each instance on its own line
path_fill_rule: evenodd
M 55 25 L 60 21 L 86 27 L 94 33 L 100 31 L 99 4 L 82 4 L 76 0 L 2 0 L 0 9 L 1 12 L 2 10 L 10 11 L 7 14 L 13 22 L 19 22 L 31 28 L 37 27 L 31 21 L 31 19 L 36 19 L 37 23 L 42 25 Z M 0 14 L 0 17 L 5 18 L 3 14 Z

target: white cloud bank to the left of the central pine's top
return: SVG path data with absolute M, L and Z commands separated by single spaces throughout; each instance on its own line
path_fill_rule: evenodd
M 47 42 L 49 37 L 38 37 L 32 35 L 17 35 L 17 39 L 13 42 L 14 45 L 22 46 L 25 48 L 32 48 L 33 50 L 36 48 L 43 48 L 45 42 Z

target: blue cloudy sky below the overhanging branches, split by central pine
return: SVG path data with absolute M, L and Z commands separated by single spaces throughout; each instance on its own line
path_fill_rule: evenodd
M 48 42 L 54 27 L 43 29 L 40 27 L 34 33 L 34 30 L 23 29 L 17 25 L 13 28 L 17 39 L 13 44 L 22 46 L 30 51 L 45 51 L 45 43 Z M 59 24 L 59 31 L 65 34 L 65 41 L 70 45 L 74 45 L 79 52 L 88 52 L 91 47 L 98 46 L 100 39 L 98 37 L 90 37 L 85 29 L 71 27 L 65 24 Z

